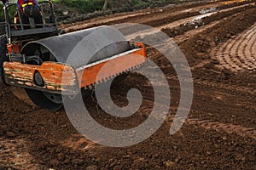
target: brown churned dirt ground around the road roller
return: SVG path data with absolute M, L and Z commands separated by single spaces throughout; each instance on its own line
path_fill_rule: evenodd
M 221 1 L 143 9 L 62 25 L 67 31 L 123 22 L 161 29 L 177 42 L 189 61 L 194 100 L 183 127 L 169 135 L 180 99 L 177 74 L 165 57 L 147 48 L 165 73 L 172 103 L 153 136 L 125 148 L 94 144 L 80 135 L 64 110 L 42 110 L 17 99 L 0 84 L 0 169 L 256 169 L 256 1 Z M 202 12 L 207 11 L 207 15 Z M 139 35 L 138 35 L 139 36 Z M 97 108 L 84 92 L 90 115 L 106 127 L 131 128 L 145 121 L 154 96 L 147 79 L 117 77 L 113 100 L 138 88 L 143 105 L 127 119 Z

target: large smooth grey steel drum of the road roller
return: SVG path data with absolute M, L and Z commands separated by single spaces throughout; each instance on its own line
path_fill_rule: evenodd
M 88 54 L 84 54 L 84 58 L 75 58 L 76 56 L 73 56 L 73 59 L 70 59 L 68 64 L 72 65 L 74 68 L 92 64 L 102 59 L 107 59 L 109 56 L 131 50 L 130 43 L 126 41 L 121 32 L 111 26 L 100 26 L 84 31 L 67 33 L 62 36 L 28 42 L 21 49 L 21 54 L 26 54 L 26 56 L 38 56 L 38 59 L 34 60 L 32 65 L 34 65 L 34 63 L 40 63 L 38 62 L 40 60 L 42 60 L 42 62 L 54 61 L 66 63 L 69 54 L 73 52 L 73 49 L 75 49 L 80 42 L 83 42 L 85 37 L 90 38 L 91 41 L 91 43 L 88 42 L 88 45 L 87 43 L 83 44 L 83 53 L 87 53 L 88 51 Z M 95 46 L 99 40 L 103 42 L 100 44 L 107 44 L 107 46 L 104 46 L 101 49 L 90 47 L 90 45 Z M 88 59 L 88 62 L 84 63 L 84 60 L 86 59 Z M 38 85 L 40 84 L 43 83 L 39 81 Z M 26 89 L 26 94 L 30 97 L 33 103 L 44 109 L 55 111 L 62 105 L 62 96 L 60 94 L 49 94 L 31 89 Z

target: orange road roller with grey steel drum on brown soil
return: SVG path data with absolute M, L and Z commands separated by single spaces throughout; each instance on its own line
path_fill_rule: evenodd
M 40 2 L 37 10 L 30 7 L 28 14 L 17 9 L 14 19 L 9 13 L 15 5 L 3 7 L 0 77 L 24 89 L 40 108 L 57 111 L 63 96 L 71 98 L 147 60 L 144 44 L 127 41 L 113 26 L 67 33 L 58 29 L 51 1 Z

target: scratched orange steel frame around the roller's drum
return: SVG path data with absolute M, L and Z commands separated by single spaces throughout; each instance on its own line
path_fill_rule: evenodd
M 79 88 L 89 88 L 97 82 L 129 71 L 147 60 L 145 46 L 142 42 L 130 42 L 130 51 L 102 59 L 91 65 L 74 69 L 72 66 L 47 61 L 42 65 L 26 65 L 19 62 L 4 62 L 5 81 L 21 88 L 32 88 L 54 94 L 77 94 Z M 9 51 L 18 52 L 15 46 L 8 46 Z M 104 65 L 109 65 L 105 66 Z M 102 71 L 101 71 L 102 70 Z M 39 72 L 44 79 L 44 86 L 38 86 L 34 75 Z M 101 72 L 101 74 L 98 74 Z M 65 77 L 65 79 L 63 79 Z

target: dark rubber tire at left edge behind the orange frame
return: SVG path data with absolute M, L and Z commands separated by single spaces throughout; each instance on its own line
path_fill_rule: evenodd
M 7 54 L 7 37 L 6 35 L 0 36 L 0 80 L 1 82 L 5 82 L 4 80 L 4 71 L 3 71 L 3 62 L 9 61 L 9 58 L 6 56 Z

